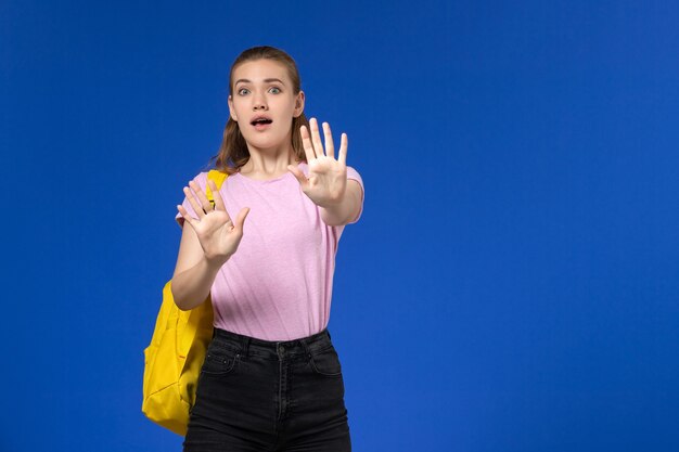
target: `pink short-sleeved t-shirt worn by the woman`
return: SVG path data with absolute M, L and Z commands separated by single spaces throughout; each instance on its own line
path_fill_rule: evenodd
M 298 167 L 308 176 L 307 164 Z M 363 190 L 360 175 L 349 166 L 347 179 L 358 181 Z M 207 172 L 194 181 L 205 192 Z M 323 222 L 320 208 L 290 171 L 268 181 L 236 172 L 219 193 L 233 221 L 243 207 L 251 210 L 238 250 L 210 289 L 214 325 L 265 340 L 292 340 L 323 331 L 330 320 L 335 254 L 344 227 Z M 197 218 L 187 197 L 182 205 Z M 353 222 L 362 210 L 361 195 L 361 209 Z M 175 218 L 182 227 L 181 215 Z

